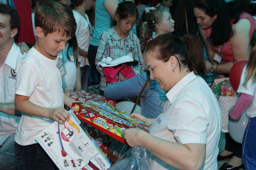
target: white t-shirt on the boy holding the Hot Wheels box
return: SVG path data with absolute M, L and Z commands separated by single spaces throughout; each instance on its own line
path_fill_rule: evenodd
M 57 62 L 57 59 L 51 60 L 32 47 L 17 67 L 15 93 L 30 97 L 29 101 L 41 107 L 63 107 L 64 92 L 61 73 L 56 67 Z M 53 122 L 22 113 L 15 142 L 23 146 L 36 143 L 35 136 Z

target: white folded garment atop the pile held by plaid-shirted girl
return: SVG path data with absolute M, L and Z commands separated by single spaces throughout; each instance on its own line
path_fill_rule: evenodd
M 107 58 L 103 58 L 101 60 L 101 62 L 98 62 L 98 66 L 101 65 L 101 67 L 113 67 L 116 66 L 118 64 L 122 64 L 122 63 L 126 63 L 126 62 L 130 62 L 133 61 L 134 59 L 131 58 L 130 56 L 123 56 L 123 57 L 119 57 L 116 59 L 112 59 L 110 57 Z

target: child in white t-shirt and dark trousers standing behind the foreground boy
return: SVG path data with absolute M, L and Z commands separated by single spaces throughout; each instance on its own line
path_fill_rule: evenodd
M 76 37 L 80 53 L 80 69 L 82 89 L 87 90 L 90 65 L 87 51 L 91 42 L 92 29 L 86 10 L 91 9 L 92 0 L 71 0 L 74 6 L 73 14 L 77 23 Z

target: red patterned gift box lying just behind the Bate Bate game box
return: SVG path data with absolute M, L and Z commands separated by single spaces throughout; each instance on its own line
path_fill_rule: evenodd
M 90 93 L 88 91 L 84 91 L 84 90 L 76 90 L 76 91 L 72 91 L 70 93 L 67 93 L 67 95 L 73 99 L 75 99 L 76 101 L 82 101 L 82 102 L 91 102 L 91 101 L 104 101 L 106 103 L 108 103 L 111 106 L 115 106 L 116 101 L 112 100 L 112 99 L 108 99 L 105 98 L 104 96 L 98 95 L 98 94 L 94 94 L 94 93 Z

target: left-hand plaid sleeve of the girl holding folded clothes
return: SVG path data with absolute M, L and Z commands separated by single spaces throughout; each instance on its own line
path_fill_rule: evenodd
M 106 33 L 103 32 L 100 36 L 99 47 L 98 47 L 97 55 L 95 58 L 96 68 L 103 77 L 105 77 L 105 75 L 103 74 L 102 67 L 98 66 L 98 63 L 101 62 L 103 58 L 110 57 L 108 56 L 108 49 L 106 49 L 107 44 L 108 44 L 108 37 L 106 36 Z

